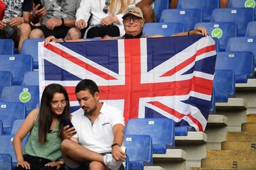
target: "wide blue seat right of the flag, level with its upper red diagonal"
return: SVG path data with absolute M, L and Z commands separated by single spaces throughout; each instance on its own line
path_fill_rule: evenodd
M 246 83 L 247 79 L 254 77 L 253 53 L 249 51 L 217 52 L 215 69 L 233 70 L 235 82 Z

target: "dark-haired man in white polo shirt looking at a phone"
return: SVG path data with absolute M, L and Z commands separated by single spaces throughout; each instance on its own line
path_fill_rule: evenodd
M 118 169 L 125 159 L 121 110 L 100 102 L 98 86 L 89 79 L 78 83 L 75 95 L 82 110 L 73 113 L 74 127 L 64 127 L 61 149 L 67 169 Z

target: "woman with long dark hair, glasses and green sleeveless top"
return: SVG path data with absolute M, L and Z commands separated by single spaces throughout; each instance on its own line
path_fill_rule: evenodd
M 29 113 L 14 137 L 17 167 L 20 169 L 60 169 L 62 153 L 61 118 L 70 116 L 69 96 L 64 87 L 50 84 L 43 90 L 41 106 Z M 29 134 L 22 152 L 22 140 Z

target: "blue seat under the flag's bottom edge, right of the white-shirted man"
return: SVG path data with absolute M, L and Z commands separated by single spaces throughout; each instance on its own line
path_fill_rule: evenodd
M 150 135 L 153 153 L 164 154 L 166 149 L 175 148 L 175 123 L 168 118 L 130 119 L 126 135 Z

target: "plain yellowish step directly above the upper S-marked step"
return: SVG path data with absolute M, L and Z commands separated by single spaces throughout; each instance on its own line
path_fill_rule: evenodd
M 256 133 L 247 132 L 228 132 L 227 141 L 256 141 Z

